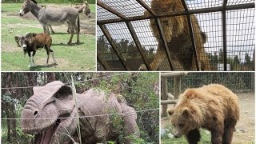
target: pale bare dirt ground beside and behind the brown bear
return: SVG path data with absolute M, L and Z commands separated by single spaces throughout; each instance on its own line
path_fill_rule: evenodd
M 255 98 L 254 93 L 237 94 L 240 104 L 240 119 L 234 132 L 232 143 L 248 143 L 254 142 L 255 136 Z M 168 108 L 173 105 L 168 105 Z M 161 118 L 161 128 L 166 128 L 170 125 L 169 118 Z M 240 130 L 244 130 L 241 132 Z

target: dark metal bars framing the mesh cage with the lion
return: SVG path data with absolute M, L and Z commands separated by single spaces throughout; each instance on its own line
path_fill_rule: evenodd
M 97 2 L 98 6 L 101 6 L 103 9 L 105 9 L 105 10 L 109 11 L 110 13 L 119 17 L 119 18 L 114 18 L 114 19 L 98 20 L 97 24 L 102 29 L 103 34 L 107 38 L 108 42 L 110 42 L 110 46 L 114 50 L 114 53 L 118 56 L 118 59 L 120 60 L 120 62 L 122 63 L 122 66 L 125 67 L 126 70 L 128 70 L 128 68 L 127 68 L 127 65 L 125 64 L 124 59 L 122 58 L 122 54 L 118 51 L 118 47 L 114 46 L 115 45 L 113 43 L 114 40 L 113 40 L 113 38 L 111 38 L 111 35 L 108 32 L 108 30 L 106 30 L 106 27 L 104 26 L 105 24 L 116 23 L 116 22 L 126 22 L 126 26 L 128 27 L 128 30 L 129 30 L 129 32 L 132 36 L 132 39 L 135 43 L 135 46 L 136 46 L 137 50 L 138 50 L 138 52 L 139 52 L 139 54 L 142 58 L 142 61 L 146 65 L 146 68 L 148 70 L 150 70 L 150 63 L 147 61 L 146 55 L 143 54 L 144 53 L 143 46 L 142 46 L 142 43 L 140 42 L 140 40 L 138 38 L 139 34 L 137 34 L 135 32 L 134 26 L 132 25 L 131 22 L 139 21 L 139 20 L 145 20 L 145 19 L 154 19 L 154 21 L 156 23 L 156 26 L 158 28 L 158 33 L 160 35 L 160 39 L 161 39 L 160 42 L 162 42 L 162 49 L 157 49 L 157 50 L 165 50 L 167 60 L 170 64 L 170 70 L 174 70 L 174 66 L 173 66 L 174 63 L 172 63 L 172 61 L 171 61 L 172 55 L 170 53 L 170 50 L 168 49 L 168 44 L 166 42 L 166 38 L 165 38 L 165 35 L 163 33 L 160 18 L 186 15 L 189 30 L 190 30 L 190 38 L 191 38 L 191 41 L 192 41 L 192 49 L 193 49 L 194 55 L 196 56 L 196 68 L 197 68 L 197 70 L 200 70 L 199 65 L 198 65 L 198 63 L 199 63 L 198 62 L 198 51 L 196 50 L 196 46 L 195 46 L 193 26 L 192 26 L 190 15 L 220 12 L 220 14 L 222 14 L 222 41 L 223 41 L 222 45 L 223 46 L 221 46 L 221 47 L 223 48 L 223 60 L 222 60 L 223 63 L 224 63 L 223 70 L 227 70 L 227 53 L 228 53 L 228 50 L 227 50 L 227 38 L 226 38 L 226 33 L 227 33 L 227 31 L 226 31 L 227 30 L 226 29 L 226 24 L 227 24 L 226 23 L 226 13 L 229 10 L 245 10 L 245 9 L 251 9 L 251 8 L 255 7 L 254 3 L 228 5 L 227 0 L 222 0 L 222 4 L 220 3 L 220 5 L 216 6 L 216 7 L 208 7 L 208 8 L 190 10 L 188 5 L 186 4 L 186 1 L 182 0 L 181 2 L 182 2 L 182 5 L 183 5 L 185 11 L 183 10 L 183 11 L 178 11 L 178 12 L 173 12 L 173 13 L 155 14 L 154 10 L 152 10 L 150 8 L 150 6 L 148 6 L 148 4 L 145 1 L 143 1 L 143 0 L 135 0 L 135 1 L 138 3 L 138 5 L 142 6 L 142 8 L 144 10 L 146 10 L 147 12 L 149 12 L 150 14 L 142 14 L 142 15 L 135 15 L 135 16 L 126 17 L 124 14 L 119 13 L 118 10 L 114 10 L 112 7 L 107 6 L 106 3 L 103 3 L 103 2 L 100 2 L 100 1 Z M 104 29 L 105 29 L 105 31 L 104 31 Z M 158 44 L 158 46 L 159 45 L 161 45 L 161 44 Z M 102 63 L 102 62 L 100 62 L 100 63 Z M 105 66 L 105 68 L 106 68 L 106 66 Z

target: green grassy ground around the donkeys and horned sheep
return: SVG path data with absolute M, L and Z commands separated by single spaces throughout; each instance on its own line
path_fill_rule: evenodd
M 39 3 L 39 5 L 51 5 L 49 3 Z M 61 4 L 68 6 L 70 3 Z M 56 5 L 56 4 L 54 4 Z M 58 4 L 59 5 L 59 4 Z M 51 34 L 53 43 L 51 50 L 54 50 L 54 56 L 57 65 L 53 64 L 50 56 L 49 65 L 46 65 L 46 50 L 37 50 L 34 57 L 35 65 L 28 68 L 29 57 L 22 52 L 14 41 L 17 34 L 26 34 L 27 32 L 42 33 L 42 25 L 30 12 L 23 17 L 18 15 L 22 8 L 22 3 L 2 3 L 2 70 L 95 70 L 95 4 L 90 4 L 92 17 L 88 18 L 85 14 L 79 14 L 80 18 L 80 44 L 67 45 L 70 34 L 66 33 L 67 26 L 53 26 L 56 34 Z M 73 43 L 76 42 L 74 34 Z

